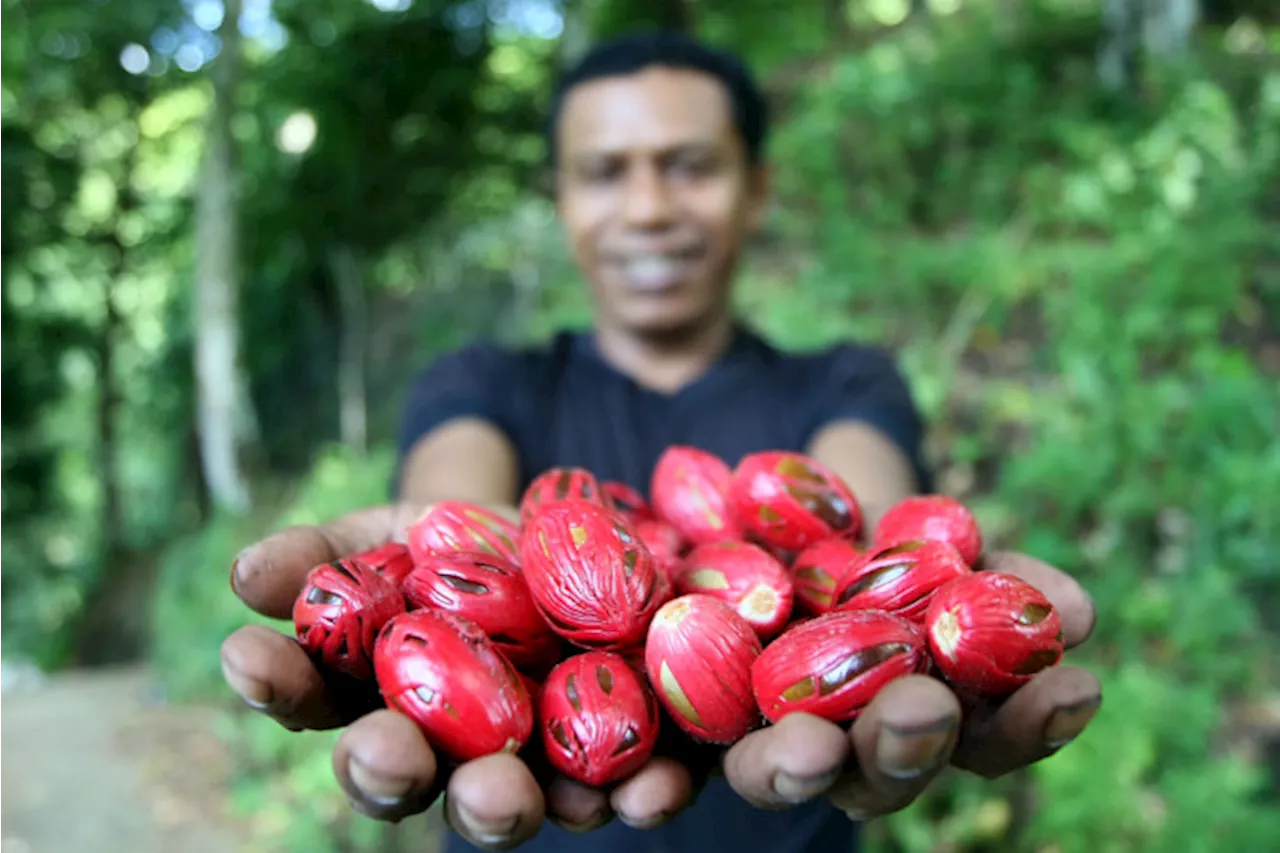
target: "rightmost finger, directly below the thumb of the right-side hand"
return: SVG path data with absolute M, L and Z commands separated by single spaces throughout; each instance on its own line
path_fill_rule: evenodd
M 1075 739 L 1102 706 L 1088 670 L 1043 670 L 996 708 L 978 710 L 956 749 L 959 767 L 995 779 L 1037 762 Z

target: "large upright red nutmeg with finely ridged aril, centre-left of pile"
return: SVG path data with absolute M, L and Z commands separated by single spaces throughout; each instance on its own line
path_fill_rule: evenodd
M 534 514 L 521 548 L 529 590 L 557 634 L 605 651 L 643 640 L 663 585 L 621 515 L 589 501 L 558 501 Z

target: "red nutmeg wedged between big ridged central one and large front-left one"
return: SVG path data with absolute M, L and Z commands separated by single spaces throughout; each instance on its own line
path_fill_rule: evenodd
M 518 667 L 550 665 L 561 638 L 543 619 L 513 564 L 483 553 L 428 557 L 401 584 L 410 608 L 431 607 L 468 619 Z

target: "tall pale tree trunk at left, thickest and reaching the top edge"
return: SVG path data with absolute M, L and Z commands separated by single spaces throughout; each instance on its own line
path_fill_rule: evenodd
M 250 510 L 243 448 L 252 432 L 241 373 L 239 246 L 230 132 L 239 60 L 241 0 L 228 0 L 214 60 L 214 108 L 196 200 L 196 394 L 201 462 L 219 508 Z

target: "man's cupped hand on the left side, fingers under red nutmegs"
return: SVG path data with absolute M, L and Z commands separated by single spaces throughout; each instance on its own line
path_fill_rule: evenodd
M 246 548 L 232 566 L 232 588 L 269 617 L 292 617 L 307 573 L 323 564 L 401 539 L 421 507 L 361 510 L 330 524 L 287 528 Z M 686 807 L 689 771 L 652 758 L 609 792 L 564 777 L 539 779 L 520 758 L 499 753 L 445 772 L 445 763 L 408 717 L 332 690 L 293 633 L 248 625 L 227 638 L 223 675 L 244 702 L 293 731 L 346 726 L 333 753 L 334 775 L 353 808 L 398 821 L 443 793 L 449 825 L 472 844 L 508 849 L 532 838 L 543 820 L 588 830 L 617 816 L 655 826 Z M 535 733 L 536 736 L 536 733 Z

